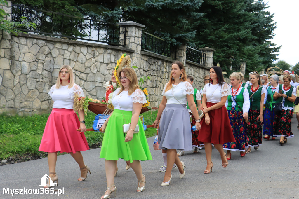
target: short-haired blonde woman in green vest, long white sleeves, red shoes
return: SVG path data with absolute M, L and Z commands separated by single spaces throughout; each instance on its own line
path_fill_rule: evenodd
M 240 85 L 242 76 L 232 73 L 229 78 L 232 88 L 225 106 L 236 142 L 223 144 L 223 149 L 227 150 L 227 160 L 231 159 L 231 151 L 240 151 L 241 157 L 245 156 L 245 149 L 248 147 L 245 119 L 248 119 L 250 107 L 248 90 Z

